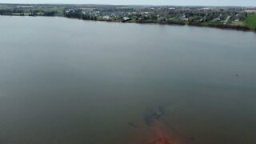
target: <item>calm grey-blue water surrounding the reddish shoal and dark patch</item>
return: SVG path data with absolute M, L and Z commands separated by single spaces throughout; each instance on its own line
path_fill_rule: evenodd
M 256 142 L 256 34 L 0 17 L 1 144 Z

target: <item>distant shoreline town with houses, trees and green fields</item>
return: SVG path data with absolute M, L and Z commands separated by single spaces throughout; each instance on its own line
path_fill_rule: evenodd
M 256 7 L 0 4 L 0 14 L 256 31 Z

